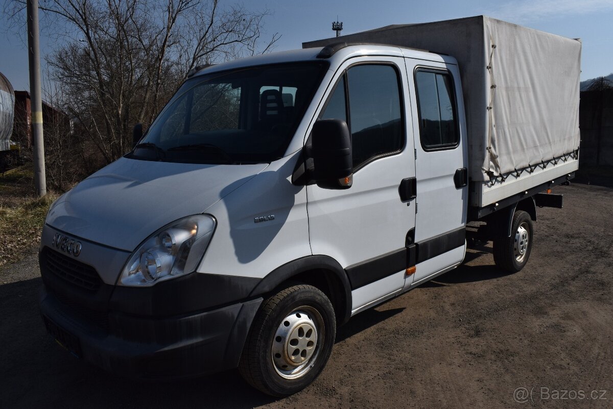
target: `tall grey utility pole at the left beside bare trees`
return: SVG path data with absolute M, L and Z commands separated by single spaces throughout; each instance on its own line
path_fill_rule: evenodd
M 34 187 L 36 195 L 47 194 L 45 181 L 45 147 L 42 139 L 42 99 L 40 98 L 40 51 L 38 0 L 28 0 L 28 59 L 30 68 L 30 118 L 32 153 L 34 159 Z

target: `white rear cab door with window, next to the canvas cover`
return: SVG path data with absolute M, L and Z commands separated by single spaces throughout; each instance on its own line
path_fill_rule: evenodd
M 462 262 L 465 251 L 466 124 L 455 64 L 406 59 L 416 148 L 417 268 L 414 283 Z

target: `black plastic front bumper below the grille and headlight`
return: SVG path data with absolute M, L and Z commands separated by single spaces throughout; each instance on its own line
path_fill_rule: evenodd
M 64 347 L 96 366 L 127 377 L 182 378 L 237 367 L 261 302 L 164 318 L 110 311 L 101 325 L 43 287 L 40 312 Z

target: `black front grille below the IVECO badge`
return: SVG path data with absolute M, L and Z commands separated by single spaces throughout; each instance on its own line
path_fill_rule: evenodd
M 44 267 L 48 272 L 63 279 L 76 287 L 95 292 L 100 288 L 101 279 L 92 266 L 62 253 L 45 247 L 43 250 Z

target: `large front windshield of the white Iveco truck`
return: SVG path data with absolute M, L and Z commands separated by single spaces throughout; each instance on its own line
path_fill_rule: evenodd
M 128 157 L 237 164 L 279 159 L 327 66 L 276 64 L 191 78 Z

